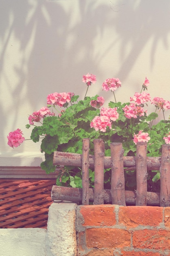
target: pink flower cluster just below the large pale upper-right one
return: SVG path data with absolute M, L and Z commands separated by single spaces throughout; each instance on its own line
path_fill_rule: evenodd
M 131 119 L 144 116 L 147 110 L 144 110 L 141 106 L 137 106 L 135 103 L 130 103 L 130 105 L 126 105 L 124 108 L 124 115 L 126 118 Z

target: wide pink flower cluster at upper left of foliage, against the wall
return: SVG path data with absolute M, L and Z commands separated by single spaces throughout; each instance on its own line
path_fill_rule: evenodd
M 72 92 L 54 92 L 51 94 L 48 94 L 47 96 L 47 104 L 49 105 L 58 105 L 59 107 L 62 107 L 66 102 L 70 102 L 72 96 L 74 96 L 74 93 Z

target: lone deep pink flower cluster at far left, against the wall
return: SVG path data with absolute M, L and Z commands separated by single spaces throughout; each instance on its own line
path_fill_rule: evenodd
M 22 137 L 22 135 L 23 133 L 19 128 L 13 132 L 9 132 L 9 135 L 7 136 L 8 145 L 12 148 L 20 146 L 20 144 L 25 140 L 25 138 Z

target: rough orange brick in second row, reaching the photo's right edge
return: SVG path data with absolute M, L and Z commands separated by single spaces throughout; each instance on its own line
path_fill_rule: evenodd
M 133 247 L 147 249 L 170 249 L 170 231 L 144 229 L 133 233 Z

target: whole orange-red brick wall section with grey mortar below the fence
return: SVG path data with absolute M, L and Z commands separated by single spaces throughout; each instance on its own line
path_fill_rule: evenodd
M 170 207 L 80 205 L 79 256 L 170 256 Z

